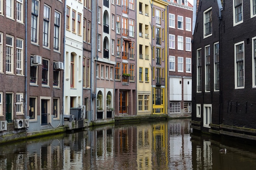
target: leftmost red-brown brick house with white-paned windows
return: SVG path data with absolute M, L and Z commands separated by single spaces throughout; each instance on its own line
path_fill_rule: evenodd
M 24 132 L 26 115 L 25 3 L 0 1 L 0 136 Z M 22 124 L 24 126 L 24 124 Z

